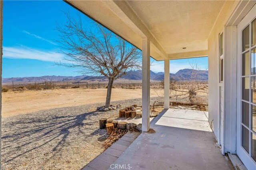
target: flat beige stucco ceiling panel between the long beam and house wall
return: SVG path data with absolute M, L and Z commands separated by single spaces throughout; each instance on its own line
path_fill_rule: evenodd
M 207 50 L 225 1 L 126 1 L 166 53 Z M 187 47 L 182 49 L 182 47 Z

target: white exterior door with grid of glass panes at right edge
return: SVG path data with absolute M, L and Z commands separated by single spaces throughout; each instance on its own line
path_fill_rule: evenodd
M 236 153 L 256 169 L 256 5 L 238 24 Z

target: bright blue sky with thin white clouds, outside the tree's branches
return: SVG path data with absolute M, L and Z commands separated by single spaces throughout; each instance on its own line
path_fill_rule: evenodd
M 78 69 L 54 65 L 64 55 L 59 46 L 56 22 L 65 23 L 63 11 L 76 17 L 79 13 L 63 1 L 4 1 L 3 18 L 3 73 L 2 77 L 29 77 L 43 75 L 80 75 Z M 90 18 L 83 22 L 90 27 Z M 154 59 L 151 59 L 152 61 Z M 190 68 L 189 62 L 197 62 L 207 69 L 207 57 L 170 61 L 170 72 Z M 151 70 L 164 71 L 163 61 L 154 61 Z

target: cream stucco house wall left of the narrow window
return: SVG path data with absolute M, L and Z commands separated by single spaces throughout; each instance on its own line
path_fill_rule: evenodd
M 218 114 L 219 114 L 219 34 L 224 31 L 224 26 L 234 11 L 238 2 L 227 1 L 214 25 L 208 38 L 208 69 L 209 69 L 209 123 L 212 126 L 215 136 L 218 139 Z M 225 32 L 224 32 L 225 34 Z M 224 42 L 225 43 L 225 42 Z M 224 56 L 225 57 L 225 56 Z

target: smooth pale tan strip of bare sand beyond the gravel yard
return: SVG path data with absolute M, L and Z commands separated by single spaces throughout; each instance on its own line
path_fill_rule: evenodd
M 104 103 L 107 89 L 54 89 L 45 91 L 8 91 L 2 93 L 2 117 L 44 109 Z M 112 89 L 112 101 L 140 98 L 142 89 Z M 157 97 L 154 90 L 150 97 Z

